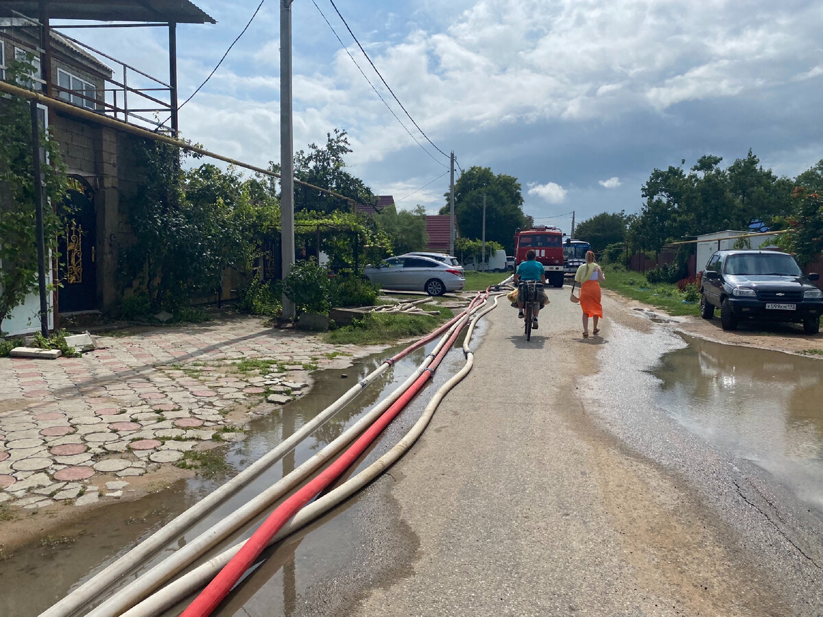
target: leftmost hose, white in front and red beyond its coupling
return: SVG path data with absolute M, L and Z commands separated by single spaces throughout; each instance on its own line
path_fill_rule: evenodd
M 365 378 L 361 379 L 360 382 L 344 393 L 342 397 L 334 401 L 312 420 L 309 420 L 309 422 L 300 427 L 294 434 L 284 439 L 277 447 L 267 452 L 263 457 L 260 457 L 256 462 L 244 469 L 244 471 L 241 471 L 237 476 L 227 481 L 226 484 L 212 491 L 211 494 L 208 494 L 205 498 L 198 501 L 198 503 L 195 503 L 184 513 L 180 513 L 177 517 L 174 517 L 174 519 L 164 527 L 161 527 L 158 531 L 146 538 L 146 540 L 143 540 L 139 545 L 129 550 L 128 553 L 124 554 L 112 564 L 109 564 L 109 566 L 95 574 L 94 577 L 84 582 L 62 600 L 45 610 L 40 614 L 40 617 L 64 617 L 65 615 L 72 615 L 89 602 L 94 601 L 105 589 L 123 577 L 124 574 L 144 563 L 147 559 L 150 559 L 153 554 L 186 531 L 188 527 L 191 527 L 200 518 L 211 512 L 212 509 L 226 501 L 226 499 L 229 499 L 230 496 L 239 491 L 239 489 L 249 484 L 249 482 L 263 473 L 269 466 L 272 466 L 275 462 L 286 456 L 286 453 L 290 452 L 292 448 L 295 448 L 298 443 L 313 433 L 314 430 L 318 429 L 319 426 L 331 418 L 332 415 L 342 410 L 342 408 L 351 402 L 360 392 L 363 392 L 366 386 L 372 383 L 375 378 L 384 373 L 390 366 L 393 366 L 395 362 L 412 353 L 413 350 L 424 346 L 425 343 L 431 341 L 434 336 L 446 332 L 453 327 L 476 302 L 477 297 L 472 299 L 472 302 L 462 313 L 458 313 L 458 315 L 450 319 L 449 322 L 444 323 L 434 332 L 412 343 L 412 345 L 407 346 L 406 349 L 400 351 L 392 358 L 385 360 L 377 369 L 374 369 L 374 371 L 366 375 Z

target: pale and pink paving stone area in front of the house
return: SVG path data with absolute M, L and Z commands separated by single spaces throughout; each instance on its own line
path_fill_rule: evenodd
M 128 480 L 193 448 L 244 438 L 238 404 L 308 391 L 305 371 L 342 368 L 380 347 L 328 345 L 253 317 L 100 336 L 81 358 L 0 358 L 0 507 L 119 499 Z M 263 370 L 239 371 L 240 360 Z M 105 476 L 105 478 L 101 478 Z

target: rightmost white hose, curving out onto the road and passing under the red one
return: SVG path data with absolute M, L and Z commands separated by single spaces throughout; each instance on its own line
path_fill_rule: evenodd
M 474 315 L 467 329 L 466 338 L 463 341 L 463 353 L 466 355 L 467 359 L 466 364 L 463 366 L 463 369 L 456 373 L 449 379 L 449 381 L 444 383 L 444 385 L 441 386 L 437 392 L 435 392 L 435 395 L 425 407 L 425 411 L 423 411 L 423 415 L 421 415 L 420 420 L 417 420 L 416 424 L 414 424 L 412 429 L 397 443 L 397 445 L 395 445 L 391 450 L 386 452 L 370 466 L 366 467 L 365 470 L 360 471 L 359 474 L 352 477 L 350 480 L 346 480 L 346 482 L 342 485 L 329 491 L 322 497 L 315 499 L 314 502 L 309 503 L 309 505 L 300 510 L 300 512 L 297 513 L 291 521 L 287 522 L 286 525 L 284 525 L 281 530 L 277 532 L 272 540 L 268 542 L 268 546 L 276 544 L 280 540 L 286 538 L 286 536 L 291 536 L 291 534 L 295 533 L 295 531 L 309 525 L 310 522 L 313 522 L 315 519 L 323 516 L 323 514 L 327 513 L 332 508 L 335 508 L 339 503 L 349 499 L 351 495 L 365 488 L 365 486 L 377 479 L 386 469 L 388 469 L 388 467 L 392 466 L 394 462 L 397 462 L 398 458 L 402 457 L 402 455 L 412 447 L 412 444 L 416 442 L 416 440 L 423 433 L 425 427 L 429 424 L 429 421 L 439 406 L 440 401 L 443 400 L 449 390 L 457 385 L 457 383 L 460 382 L 467 375 L 467 373 L 472 370 L 474 355 L 469 350 L 469 342 L 471 341 L 474 327 L 479 318 L 496 308 L 499 300 L 500 295 L 496 295 L 495 303 L 493 305 Z M 234 557 L 242 547 L 243 542 L 239 542 L 230 549 L 223 551 L 221 554 L 208 559 L 197 568 L 185 573 L 182 577 L 178 578 L 174 582 L 170 582 L 169 585 L 166 585 L 160 589 L 160 591 L 157 591 L 152 596 L 133 606 L 131 610 L 123 613 L 122 617 L 154 617 L 154 615 L 160 615 L 163 611 L 169 610 L 174 605 L 178 604 L 179 601 L 182 601 L 184 598 L 190 596 L 194 591 L 202 589 L 208 581 L 212 580 L 212 578 L 220 572 L 221 568 L 229 563 L 230 559 Z

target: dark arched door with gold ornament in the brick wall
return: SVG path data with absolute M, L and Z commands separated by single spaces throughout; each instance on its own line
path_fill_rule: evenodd
M 72 179 L 66 193 L 58 267 L 60 313 L 97 308 L 96 223 L 94 193 Z

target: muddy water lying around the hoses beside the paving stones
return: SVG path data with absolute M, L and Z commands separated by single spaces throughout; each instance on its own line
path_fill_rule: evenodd
M 455 343 L 455 347 L 462 346 L 462 340 L 461 337 Z M 184 546 L 202 531 L 212 527 L 222 517 L 225 517 L 235 508 L 252 499 L 274 482 L 280 480 L 282 476 L 314 456 L 319 449 L 337 438 L 351 424 L 354 424 L 364 411 L 370 410 L 375 403 L 392 392 L 399 383 L 405 381 L 421 364 L 425 359 L 425 355 L 432 350 L 435 344 L 436 341 L 412 352 L 412 354 L 381 374 L 354 401 L 316 429 L 308 438 L 305 438 L 292 452 L 286 454 L 280 462 L 272 465 L 261 476 L 258 476 L 244 489 L 241 489 L 238 494 L 222 503 L 201 522 L 198 522 L 191 530 L 171 542 L 166 550 L 156 555 L 155 559 L 147 562 L 142 568 L 129 575 L 127 580 L 123 582 L 123 586 L 136 578 L 137 574 L 146 572 L 174 550 Z M 0 594 L 0 615 L 14 615 L 15 617 L 39 615 L 41 611 L 65 596 L 73 587 L 77 587 L 87 578 L 91 578 L 93 573 L 105 568 L 114 559 L 125 553 L 133 545 L 136 545 L 139 540 L 151 535 L 193 503 L 211 493 L 212 490 L 223 484 L 231 476 L 234 476 L 238 471 L 249 466 L 263 456 L 265 452 L 281 443 L 284 438 L 294 433 L 295 430 L 341 397 L 360 379 L 376 369 L 386 358 L 391 357 L 401 349 L 402 347 L 394 350 L 389 349 L 377 355 L 357 360 L 355 364 L 347 369 L 326 370 L 317 373 L 314 376 L 314 387 L 309 394 L 285 406 L 281 413 L 253 420 L 249 427 L 249 437 L 246 440 L 226 446 L 228 448 L 226 452 L 226 471 L 211 478 L 196 477 L 191 480 L 181 480 L 168 489 L 160 490 L 135 502 L 115 503 L 103 508 L 100 513 L 91 514 L 90 517 L 81 522 L 63 527 L 46 540 L 35 541 L 15 550 L 14 554 L 8 559 L 0 561 L 0 580 L 2 580 L 3 587 L 2 594 Z M 449 375 L 453 374 L 456 370 L 453 365 L 458 363 L 462 365 L 463 354 L 453 351 L 442 364 L 443 372 L 449 373 Z M 439 380 L 435 377 L 434 387 L 437 387 L 438 382 L 444 381 L 449 375 L 444 374 L 443 378 Z M 430 383 L 425 392 L 434 392 L 434 387 Z M 426 395 L 418 398 L 424 397 Z M 405 434 L 410 426 L 416 422 L 422 406 L 425 406 L 425 401 L 412 401 L 412 404 L 398 415 L 393 424 L 384 431 L 380 442 L 360 458 L 356 468 L 346 471 L 345 476 L 354 475 L 393 447 L 398 438 Z M 346 551 L 344 550 L 330 553 L 328 550 L 324 551 L 323 546 L 328 546 L 329 543 L 345 545 L 347 540 L 356 541 L 355 538 L 348 536 L 351 536 L 351 530 L 356 528 L 352 526 L 351 521 L 353 517 L 356 517 L 359 500 L 359 496 L 356 495 L 333 513 L 329 513 L 326 517 L 320 519 L 325 522 L 323 527 L 315 522 L 306 530 L 300 531 L 295 536 L 281 542 L 277 547 L 272 548 L 272 550 L 268 550 L 266 554 L 269 559 L 258 568 L 259 570 L 269 571 L 268 575 L 263 574 L 263 576 L 260 576 L 256 573 L 255 576 L 247 577 L 244 582 L 239 584 L 239 587 L 249 587 L 251 585 L 253 588 L 254 585 L 263 585 L 269 578 L 277 579 L 277 588 L 281 589 L 282 592 L 279 597 L 272 597 L 270 592 L 265 594 L 267 603 L 265 614 L 291 614 L 295 598 L 300 594 L 300 580 L 295 577 L 295 563 L 301 564 L 304 567 L 303 571 L 308 573 L 314 573 L 318 570 L 333 571 L 336 568 L 342 568 L 351 555 L 346 557 Z M 258 517 L 258 521 L 263 520 L 265 516 L 267 514 Z M 235 544 L 240 539 L 249 537 L 255 527 L 256 524 L 253 524 L 247 530 L 225 540 L 216 550 L 212 551 L 212 554 Z M 304 537 L 309 534 L 309 531 L 311 531 L 312 541 L 308 543 L 306 550 L 301 550 L 301 545 L 306 545 Z M 337 557 L 332 559 L 330 557 L 332 554 L 336 554 Z M 306 579 L 308 578 L 307 576 Z M 252 581 L 253 583 L 250 583 Z M 32 593 L 33 590 L 39 590 L 39 592 Z M 245 594 L 240 595 L 249 597 L 249 591 L 247 590 Z M 253 593 L 250 595 L 253 596 Z M 183 607 L 181 606 L 180 610 Z M 215 615 L 233 614 L 234 610 L 230 607 L 218 610 L 215 613 Z M 241 614 L 243 613 L 241 612 Z M 179 615 L 179 610 L 170 610 L 169 615 Z

